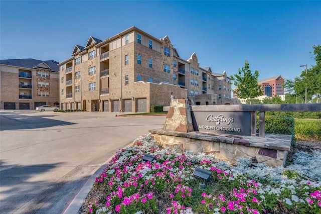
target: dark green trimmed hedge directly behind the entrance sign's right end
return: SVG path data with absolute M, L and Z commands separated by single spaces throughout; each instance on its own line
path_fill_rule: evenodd
M 256 118 L 256 131 L 259 131 L 259 118 Z M 294 118 L 265 116 L 265 133 L 291 135 L 291 145 L 295 145 Z

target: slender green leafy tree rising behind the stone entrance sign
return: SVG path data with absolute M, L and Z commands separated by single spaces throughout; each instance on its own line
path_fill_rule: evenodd
M 231 79 L 234 81 L 233 84 L 236 86 L 233 92 L 241 99 L 249 98 L 250 104 L 252 104 L 252 98 L 263 94 L 261 86 L 257 83 L 258 76 L 259 72 L 257 70 L 254 75 L 252 74 L 249 63 L 245 60 L 242 70 L 239 69 L 238 74 L 231 76 Z

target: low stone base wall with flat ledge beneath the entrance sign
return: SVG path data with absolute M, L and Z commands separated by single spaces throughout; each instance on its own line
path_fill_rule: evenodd
M 266 134 L 265 138 L 210 133 L 179 133 L 165 130 L 150 130 L 153 140 L 164 147 L 181 147 L 183 151 L 214 154 L 217 159 L 235 164 L 240 157 L 267 166 L 285 165 L 290 151 L 291 136 Z

